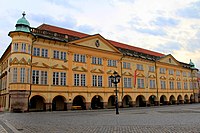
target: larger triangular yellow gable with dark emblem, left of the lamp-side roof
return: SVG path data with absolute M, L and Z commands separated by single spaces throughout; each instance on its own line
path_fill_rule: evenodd
M 81 38 L 79 40 L 75 40 L 70 43 L 81 45 L 84 47 L 90 47 L 94 49 L 120 53 L 118 49 L 116 49 L 109 41 L 107 41 L 99 34 Z

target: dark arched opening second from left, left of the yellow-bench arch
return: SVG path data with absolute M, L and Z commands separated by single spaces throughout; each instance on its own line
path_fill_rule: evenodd
M 53 111 L 63 111 L 67 110 L 65 106 L 65 98 L 63 96 L 56 96 L 52 101 L 52 110 Z

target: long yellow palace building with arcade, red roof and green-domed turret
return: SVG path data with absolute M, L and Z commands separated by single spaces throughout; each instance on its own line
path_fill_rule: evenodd
M 0 109 L 45 111 L 160 106 L 198 102 L 198 69 L 171 54 L 48 24 L 23 13 L 0 58 Z

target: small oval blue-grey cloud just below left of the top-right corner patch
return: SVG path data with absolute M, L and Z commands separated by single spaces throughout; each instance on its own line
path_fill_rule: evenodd
M 150 22 L 156 26 L 176 26 L 179 24 L 179 20 L 173 18 L 166 18 L 166 17 L 157 17 L 156 20 Z

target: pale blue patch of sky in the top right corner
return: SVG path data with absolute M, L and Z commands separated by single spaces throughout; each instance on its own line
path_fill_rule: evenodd
M 200 19 L 200 1 L 193 2 L 186 8 L 178 10 L 177 14 L 185 18 Z

